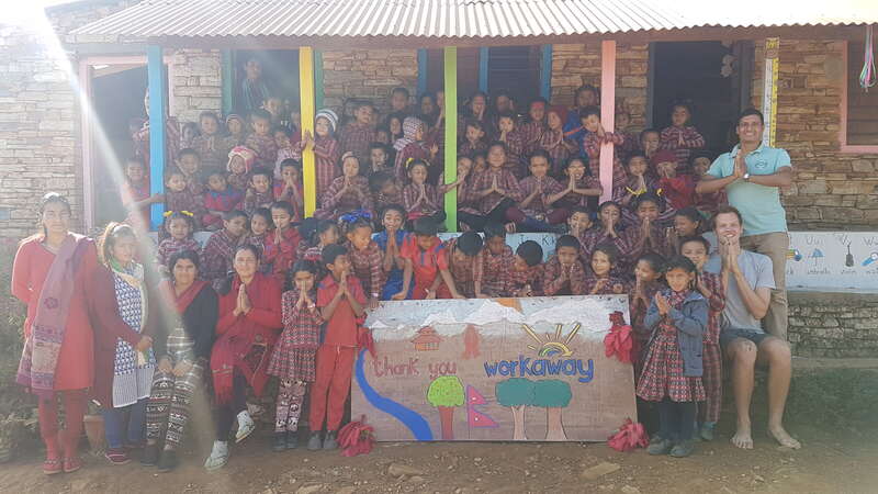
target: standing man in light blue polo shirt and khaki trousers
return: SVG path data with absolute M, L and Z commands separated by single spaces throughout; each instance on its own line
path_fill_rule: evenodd
M 787 214 L 780 204 L 780 188 L 792 183 L 792 166 L 786 150 L 762 143 L 765 121 L 756 109 L 738 119 L 740 144 L 713 161 L 696 186 L 699 194 L 725 189 L 729 204 L 744 220 L 741 247 L 772 259 L 775 289 L 763 325 L 769 334 L 787 339 L 786 263 L 789 250 Z

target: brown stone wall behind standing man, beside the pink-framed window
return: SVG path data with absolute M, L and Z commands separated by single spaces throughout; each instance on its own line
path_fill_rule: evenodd
M 780 41 L 776 146 L 796 173 L 784 194 L 790 229 L 875 229 L 878 155 L 842 154 L 844 43 Z M 756 43 L 753 104 L 762 105 L 764 43 Z M 878 119 L 878 116 L 876 116 Z

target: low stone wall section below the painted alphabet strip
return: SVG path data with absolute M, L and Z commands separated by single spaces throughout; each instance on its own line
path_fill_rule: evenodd
M 789 340 L 800 357 L 878 357 L 878 294 L 789 292 Z

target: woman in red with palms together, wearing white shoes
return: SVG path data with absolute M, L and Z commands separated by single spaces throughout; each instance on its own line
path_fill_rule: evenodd
M 228 462 L 228 435 L 238 419 L 235 441 L 249 436 L 256 425 L 247 412 L 246 386 L 262 393 L 266 368 L 281 322 L 281 287 L 259 272 L 259 250 L 239 246 L 233 261 L 235 273 L 219 290 L 217 339 L 211 353 L 211 371 L 217 405 L 216 440 L 204 468 L 217 470 Z M 225 290 L 223 290 L 225 289 Z

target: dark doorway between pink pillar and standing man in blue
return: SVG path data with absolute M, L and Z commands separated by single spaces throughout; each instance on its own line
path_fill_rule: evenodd
M 693 108 L 691 124 L 705 136 L 706 148 L 714 155 L 729 150 L 738 142 L 735 119 L 750 105 L 752 49 L 750 42 L 653 43 L 652 126 L 671 125 L 672 106 L 685 101 Z

